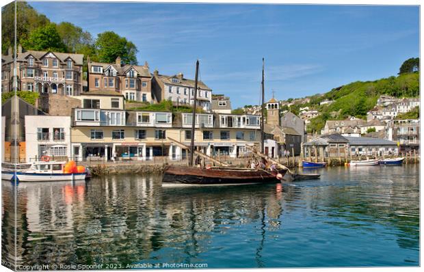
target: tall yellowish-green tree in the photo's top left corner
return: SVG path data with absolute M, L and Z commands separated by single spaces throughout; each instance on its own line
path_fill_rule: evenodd
M 14 9 L 15 3 L 9 3 L 1 8 L 1 51 L 5 53 L 14 45 Z M 39 14 L 27 2 L 16 3 L 16 43 L 26 39 L 29 33 L 38 27 L 49 24 L 49 19 L 44 14 Z

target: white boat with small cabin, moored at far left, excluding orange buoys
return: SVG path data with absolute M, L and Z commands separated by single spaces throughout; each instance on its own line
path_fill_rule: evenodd
M 37 161 L 26 165 L 4 167 L 1 169 L 1 179 L 14 181 L 15 176 L 21 181 L 63 181 L 63 180 L 85 180 L 84 173 L 65 174 L 63 167 L 66 161 Z M 27 166 L 27 167 L 25 167 Z

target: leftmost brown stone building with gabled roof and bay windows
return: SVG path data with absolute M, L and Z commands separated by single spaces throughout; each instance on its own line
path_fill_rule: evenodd
M 16 86 L 12 48 L 8 55 L 1 55 L 2 92 L 23 90 L 77 96 L 83 91 L 83 55 L 25 51 L 21 45 L 16 54 Z

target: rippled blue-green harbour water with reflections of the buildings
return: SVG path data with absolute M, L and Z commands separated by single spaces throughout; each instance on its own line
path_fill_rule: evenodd
M 311 172 L 321 179 L 281 187 L 161 187 L 161 176 L 136 175 L 21 182 L 18 265 L 419 265 L 419 165 Z M 12 260 L 15 187 L 2 189 L 2 254 Z

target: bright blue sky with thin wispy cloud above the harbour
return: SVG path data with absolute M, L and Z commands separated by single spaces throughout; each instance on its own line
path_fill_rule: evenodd
M 137 46 L 151 72 L 200 78 L 233 107 L 265 98 L 328 92 L 352 81 L 396 75 L 419 57 L 419 8 L 376 5 L 233 5 L 30 2 L 51 21 L 97 33 L 111 30 Z

